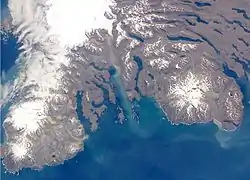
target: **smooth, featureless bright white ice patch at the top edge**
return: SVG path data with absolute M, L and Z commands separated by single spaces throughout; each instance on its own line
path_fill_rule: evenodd
M 104 16 L 110 0 L 48 0 L 46 4 L 51 5 L 46 15 L 50 33 L 62 45 L 81 44 L 91 29 L 104 28 L 111 33 L 112 21 Z

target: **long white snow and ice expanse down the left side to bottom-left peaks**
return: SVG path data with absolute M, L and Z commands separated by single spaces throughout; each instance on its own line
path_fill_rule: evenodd
M 111 0 L 9 0 L 13 25 L 22 51 L 18 62 L 22 66 L 8 98 L 29 85 L 33 101 L 14 102 L 4 123 L 16 130 L 24 129 L 23 136 L 11 148 L 16 158 L 28 152 L 25 136 L 42 127 L 46 120 L 45 101 L 53 97 L 63 72 L 60 65 L 68 65 L 68 48 L 82 44 L 86 32 L 96 28 L 107 29 L 111 34 L 112 21 L 104 13 L 110 11 Z

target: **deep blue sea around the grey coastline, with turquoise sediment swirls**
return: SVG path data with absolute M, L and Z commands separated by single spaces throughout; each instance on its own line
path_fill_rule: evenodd
M 13 66 L 18 56 L 17 47 L 14 37 L 4 43 L 1 40 L 1 72 L 8 72 L 9 79 L 16 72 Z M 235 78 L 245 95 L 244 118 L 235 132 L 219 131 L 213 124 L 171 125 L 154 100 L 143 97 L 136 103 L 139 124 L 129 118 L 124 124 L 115 123 L 117 108 L 109 104 L 109 110 L 99 121 L 100 128 L 90 134 L 84 151 L 75 158 L 63 165 L 45 167 L 42 171 L 24 169 L 18 176 L 4 173 L 1 166 L 1 179 L 248 180 L 249 84 L 226 68 L 225 73 Z M 78 104 L 80 97 L 77 96 Z M 123 99 L 122 93 L 117 93 L 117 98 Z M 126 108 L 126 101 L 121 103 Z M 1 119 L 5 113 L 1 109 Z M 77 113 L 80 117 L 81 112 Z

